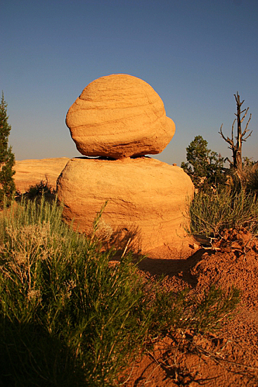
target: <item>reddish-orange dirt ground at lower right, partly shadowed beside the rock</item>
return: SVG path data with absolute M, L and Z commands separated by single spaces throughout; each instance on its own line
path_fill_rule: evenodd
M 212 284 L 225 290 L 234 285 L 241 302 L 216 334 L 188 331 L 180 345 L 169 338 L 157 341 L 129 367 L 123 386 L 258 386 L 258 243 L 247 231 L 226 231 L 212 248 L 188 255 L 156 249 L 139 270 L 150 280 L 164 274 L 168 290 L 188 287 L 196 295 Z

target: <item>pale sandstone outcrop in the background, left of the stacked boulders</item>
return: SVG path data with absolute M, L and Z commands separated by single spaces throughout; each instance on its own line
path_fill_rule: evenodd
M 46 179 L 56 189 L 56 179 L 69 160 L 70 158 L 60 157 L 15 161 L 13 169 L 16 190 L 24 193 L 30 186 Z

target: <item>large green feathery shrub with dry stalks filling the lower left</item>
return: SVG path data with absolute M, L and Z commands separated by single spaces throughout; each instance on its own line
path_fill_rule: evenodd
M 36 381 L 76 385 L 74 374 L 83 369 L 74 383 L 81 386 L 83 378 L 85 385 L 105 386 L 143 339 L 143 288 L 134 265 L 124 260 L 110 267 L 110 252 L 100 253 L 94 243 L 65 226 L 60 215 L 58 205 L 29 201 L 12 208 L 4 219 L 1 349 L 7 345 L 6 355 L 15 350 L 5 362 L 13 367 L 22 354 L 24 365 L 15 369 L 20 385 L 25 380 L 27 386 Z M 135 330 L 137 319 L 143 323 Z M 53 343 L 57 353 L 48 359 Z M 69 357 L 67 369 L 62 363 L 57 368 L 62 356 Z

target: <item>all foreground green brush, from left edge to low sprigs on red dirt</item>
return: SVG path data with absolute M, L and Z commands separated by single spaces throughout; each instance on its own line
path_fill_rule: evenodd
M 62 210 L 42 198 L 1 216 L 1 385 L 113 386 L 154 337 L 215 329 L 236 306 L 236 291 L 148 293 L 130 255 L 110 265 Z

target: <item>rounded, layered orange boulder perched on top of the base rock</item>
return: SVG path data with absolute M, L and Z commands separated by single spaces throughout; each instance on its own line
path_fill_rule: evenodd
M 82 155 L 111 158 L 160 153 L 175 132 L 155 90 L 125 74 L 88 84 L 68 110 L 66 125 Z

